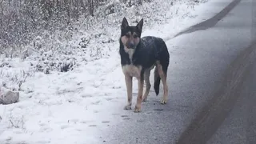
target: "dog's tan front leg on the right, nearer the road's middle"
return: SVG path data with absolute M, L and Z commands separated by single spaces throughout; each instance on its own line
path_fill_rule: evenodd
M 144 78 L 141 76 L 138 78 L 138 96 L 137 96 L 137 103 L 135 106 L 135 113 L 138 113 L 142 109 L 142 94 L 143 94 L 143 85 L 144 85 Z

